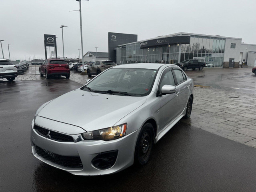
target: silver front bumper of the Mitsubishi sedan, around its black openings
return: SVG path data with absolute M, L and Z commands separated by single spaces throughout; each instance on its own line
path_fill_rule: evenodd
M 134 150 L 139 130 L 124 136 L 123 138 L 103 140 L 81 140 L 79 142 L 58 142 L 39 135 L 34 130 L 34 120 L 31 124 L 32 154 L 51 166 L 65 170 L 74 175 L 102 175 L 119 172 L 133 164 Z M 36 146 L 59 156 L 79 157 L 82 162 L 81 168 L 72 168 L 56 164 L 46 160 L 36 152 Z M 100 170 L 93 166 L 92 160 L 100 153 L 118 150 L 116 162 L 111 168 Z

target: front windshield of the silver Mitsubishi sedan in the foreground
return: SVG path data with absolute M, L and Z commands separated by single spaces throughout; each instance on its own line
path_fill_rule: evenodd
M 157 70 L 111 68 L 81 90 L 122 96 L 146 96 L 150 93 Z

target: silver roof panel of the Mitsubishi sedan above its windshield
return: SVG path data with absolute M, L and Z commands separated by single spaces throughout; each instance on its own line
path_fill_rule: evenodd
M 141 68 L 141 69 L 154 69 L 157 70 L 160 67 L 168 65 L 168 66 L 176 66 L 174 64 L 163 64 L 163 63 L 134 63 L 134 64 L 122 64 L 114 66 L 113 68 Z

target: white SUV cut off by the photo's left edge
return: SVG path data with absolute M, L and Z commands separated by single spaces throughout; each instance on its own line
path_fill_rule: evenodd
M 0 78 L 13 81 L 18 76 L 18 70 L 8 59 L 0 59 Z

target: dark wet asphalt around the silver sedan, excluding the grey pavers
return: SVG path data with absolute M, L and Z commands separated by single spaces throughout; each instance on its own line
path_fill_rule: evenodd
M 256 191 L 255 148 L 181 122 L 154 145 L 142 167 L 107 176 L 74 176 L 40 162 L 30 153 L 36 109 L 80 86 L 58 78 L 0 83 L 1 192 Z M 68 110 L 62 115 L 68 116 Z

